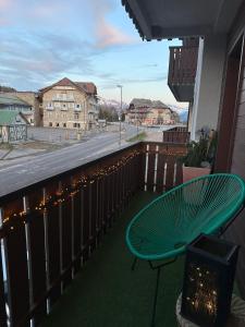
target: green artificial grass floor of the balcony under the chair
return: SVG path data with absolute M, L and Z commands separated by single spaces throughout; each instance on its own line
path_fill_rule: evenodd
M 53 306 L 42 327 L 149 327 L 157 271 L 147 262 L 131 270 L 133 256 L 125 245 L 125 229 L 133 216 L 156 194 L 139 193 L 103 237 Z M 183 259 L 161 271 L 156 327 L 175 327 L 175 302 L 181 292 Z

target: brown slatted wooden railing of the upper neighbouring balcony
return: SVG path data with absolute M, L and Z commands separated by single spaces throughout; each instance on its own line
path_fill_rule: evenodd
M 196 77 L 197 47 L 170 47 L 169 78 L 170 85 L 193 84 Z

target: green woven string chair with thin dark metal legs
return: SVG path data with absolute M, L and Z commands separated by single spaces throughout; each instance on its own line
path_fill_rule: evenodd
M 155 326 L 161 267 L 173 263 L 200 233 L 222 233 L 242 210 L 244 181 L 228 173 L 200 177 L 159 196 L 130 222 L 126 244 L 136 258 L 157 269 L 151 326 Z M 154 265 L 155 261 L 164 261 Z

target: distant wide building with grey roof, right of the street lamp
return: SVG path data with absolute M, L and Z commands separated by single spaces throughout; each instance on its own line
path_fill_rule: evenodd
M 177 114 L 161 101 L 133 99 L 125 113 L 125 121 L 140 125 L 175 124 Z

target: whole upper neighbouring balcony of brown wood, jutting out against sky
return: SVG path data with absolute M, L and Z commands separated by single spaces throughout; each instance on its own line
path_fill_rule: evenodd
M 197 47 L 170 47 L 168 85 L 177 101 L 193 100 L 197 56 Z

